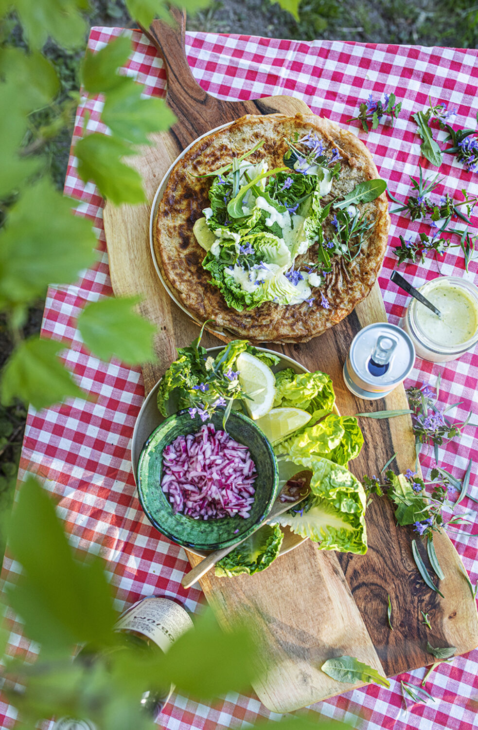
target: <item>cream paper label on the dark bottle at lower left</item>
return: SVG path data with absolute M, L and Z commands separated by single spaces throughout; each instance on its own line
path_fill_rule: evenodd
M 120 616 L 115 631 L 137 631 L 167 651 L 192 627 L 193 622 L 180 605 L 171 599 L 149 596 L 133 604 Z

